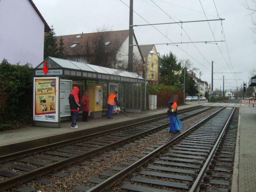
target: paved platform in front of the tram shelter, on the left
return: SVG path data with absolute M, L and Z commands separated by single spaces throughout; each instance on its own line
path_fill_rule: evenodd
M 194 106 L 198 106 L 198 103 L 189 103 L 185 106 L 180 106 L 179 109 L 190 108 Z M 27 147 L 27 145 L 36 145 L 37 147 L 40 145 L 59 142 L 61 140 L 81 137 L 95 132 L 105 131 L 110 128 L 116 128 L 127 124 L 136 123 L 136 121 L 138 122 L 140 119 L 145 119 L 149 116 L 161 114 L 164 115 L 165 113 L 166 108 L 163 108 L 152 111 L 145 111 L 142 112 L 142 114 L 129 113 L 129 117 L 125 116 L 123 113 L 117 115 L 113 114 L 112 117 L 114 119 L 107 119 L 106 116 L 103 116 L 100 119 L 91 119 L 89 122 L 83 122 L 82 119 L 78 119 L 78 129 L 71 129 L 71 122 L 65 121 L 60 123 L 60 128 L 27 126 L 21 129 L 3 131 L 0 132 L 0 156 L 7 154 L 7 146 L 9 147 L 13 145 L 13 147 L 20 147 L 19 150 Z M 21 145 L 22 142 L 23 144 Z M 20 145 L 17 146 L 17 143 L 19 143 Z

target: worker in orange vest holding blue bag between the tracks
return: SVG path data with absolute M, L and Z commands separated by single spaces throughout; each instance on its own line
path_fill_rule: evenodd
M 167 107 L 168 107 L 167 115 L 169 116 L 169 119 L 170 119 L 170 129 L 168 132 L 171 132 L 171 133 L 176 133 L 175 126 L 176 126 L 176 115 L 178 111 L 178 106 L 177 106 L 178 100 L 179 100 L 178 95 L 172 95 L 171 99 L 167 103 Z

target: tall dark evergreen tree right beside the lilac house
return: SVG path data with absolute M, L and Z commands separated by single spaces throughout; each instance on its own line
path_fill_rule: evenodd
M 44 36 L 44 59 L 47 57 L 58 57 L 59 46 L 53 26 L 48 35 Z

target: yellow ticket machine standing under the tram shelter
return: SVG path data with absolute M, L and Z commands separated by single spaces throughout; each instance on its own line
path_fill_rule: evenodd
M 96 119 L 102 116 L 103 85 L 89 85 L 90 118 Z

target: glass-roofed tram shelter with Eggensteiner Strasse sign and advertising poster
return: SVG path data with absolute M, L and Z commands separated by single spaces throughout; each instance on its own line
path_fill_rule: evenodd
M 46 74 L 43 68 L 48 68 Z M 60 127 L 61 121 L 69 120 L 68 96 L 74 86 L 79 88 L 80 105 L 84 90 L 89 91 L 90 118 L 106 114 L 110 91 L 118 92 L 122 110 L 141 113 L 144 83 L 141 76 L 132 72 L 48 57 L 34 68 L 34 125 Z M 80 113 L 81 108 L 79 116 Z

